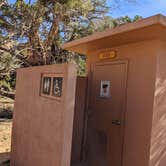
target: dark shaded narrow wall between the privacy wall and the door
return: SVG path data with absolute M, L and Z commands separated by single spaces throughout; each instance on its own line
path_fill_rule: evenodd
M 72 163 L 79 163 L 83 157 L 86 99 L 87 77 L 77 77 L 72 140 Z

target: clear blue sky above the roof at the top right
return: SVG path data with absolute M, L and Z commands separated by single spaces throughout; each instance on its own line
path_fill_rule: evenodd
M 13 2 L 15 0 L 9 1 Z M 107 0 L 107 2 L 109 6 L 112 6 L 110 11 L 112 17 L 126 15 L 130 17 L 135 15 L 148 17 L 159 13 L 166 15 L 166 0 Z M 119 2 L 119 4 L 115 5 L 115 2 Z

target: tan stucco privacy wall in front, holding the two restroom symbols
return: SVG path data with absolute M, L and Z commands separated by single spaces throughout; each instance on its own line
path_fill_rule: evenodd
M 61 101 L 42 97 L 42 73 L 63 74 Z M 69 64 L 17 71 L 11 166 L 69 166 L 76 68 Z

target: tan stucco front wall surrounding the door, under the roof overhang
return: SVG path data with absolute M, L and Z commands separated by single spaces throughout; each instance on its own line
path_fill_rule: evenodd
M 149 163 L 156 55 L 159 45 L 159 41 L 153 40 L 114 48 L 110 46 L 117 51 L 117 57 L 105 60 L 129 61 L 123 166 L 148 166 Z M 98 58 L 98 52 L 92 52 L 87 61 L 87 74 L 90 78 L 90 65 L 102 61 Z

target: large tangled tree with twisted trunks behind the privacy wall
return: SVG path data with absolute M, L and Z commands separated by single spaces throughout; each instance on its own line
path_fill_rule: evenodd
M 11 71 L 17 67 L 73 59 L 78 66 L 83 66 L 85 57 L 62 50 L 60 45 L 91 34 L 94 21 L 102 19 L 107 11 L 106 0 L 37 0 L 35 3 L 17 0 L 14 4 L 1 1 L 0 94 L 6 94 L 4 90 L 14 90 L 8 82 Z M 15 67 L 9 72 L 7 66 L 13 59 L 16 60 Z

